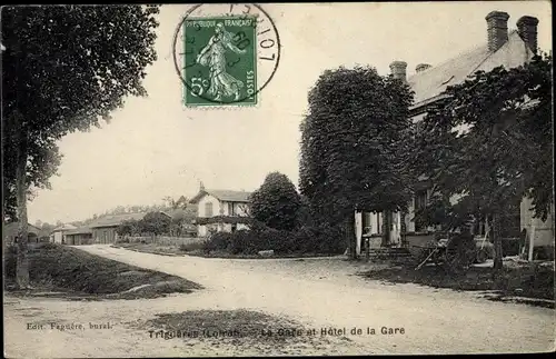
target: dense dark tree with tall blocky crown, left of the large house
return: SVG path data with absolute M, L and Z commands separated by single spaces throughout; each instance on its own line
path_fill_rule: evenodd
M 345 223 L 354 211 L 404 211 L 411 198 L 409 87 L 374 68 L 325 71 L 301 123 L 300 190 L 314 216 Z

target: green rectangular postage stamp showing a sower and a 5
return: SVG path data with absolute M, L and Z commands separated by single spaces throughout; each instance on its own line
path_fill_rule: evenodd
M 257 104 L 257 18 L 183 21 L 186 106 Z

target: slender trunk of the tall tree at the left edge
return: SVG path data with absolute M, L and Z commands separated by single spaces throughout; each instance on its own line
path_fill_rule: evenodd
M 16 189 L 18 201 L 18 258 L 16 279 L 19 288 L 30 287 L 29 282 L 29 258 L 28 258 L 28 225 L 27 225 L 27 141 L 28 133 L 23 127 L 21 116 L 12 119 L 17 126 L 17 167 L 16 167 Z

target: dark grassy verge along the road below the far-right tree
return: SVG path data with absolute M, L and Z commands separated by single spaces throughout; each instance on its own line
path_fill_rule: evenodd
M 493 278 L 493 269 L 488 267 L 470 267 L 467 271 L 455 275 L 447 272 L 441 266 L 425 266 L 419 270 L 410 266 L 399 266 L 360 275 L 393 283 L 411 282 L 454 290 L 495 291 L 498 296 L 493 299 L 522 297 L 554 300 L 554 267 L 542 267 L 537 263 L 506 266 L 496 279 Z M 554 307 L 554 303 L 546 306 Z

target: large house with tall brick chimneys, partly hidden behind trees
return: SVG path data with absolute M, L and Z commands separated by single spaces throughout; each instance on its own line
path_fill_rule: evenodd
M 530 61 L 537 51 L 538 20 L 524 16 L 517 21 L 517 30 L 508 31 L 508 19 L 509 14 L 506 12 L 489 12 L 485 18 L 485 43 L 437 66 L 419 63 L 410 77 L 407 77 L 405 61 L 391 62 L 393 76 L 407 82 L 415 92 L 414 104 L 410 108 L 414 124 L 418 126 L 427 114 L 428 108 L 444 98 L 443 92 L 447 87 L 465 81 L 477 71 L 488 72 L 499 66 L 510 69 Z M 393 216 L 388 216 L 388 213 L 356 213 L 358 251 L 360 251 L 363 238 L 380 236 L 385 230 L 389 232 L 389 246 L 409 247 L 431 240 L 433 228 L 426 228 L 415 220 L 416 211 L 426 206 L 431 195 L 430 186 L 427 186 L 426 182 L 421 185 L 411 202 L 408 203 L 407 213 L 393 213 Z M 457 201 L 456 198 L 451 200 Z M 554 205 L 552 213 L 554 213 Z M 388 218 L 386 226 L 385 218 Z M 530 235 L 533 227 L 537 229 L 534 232 L 535 242 L 552 242 L 554 246 L 554 220 L 550 218 L 547 221 L 534 219 L 529 200 L 523 199 L 520 203 L 517 201 L 515 211 L 507 216 L 506 228 L 510 230 L 506 236 L 519 236 L 519 230 L 523 229 L 526 229 Z M 478 235 L 480 233 L 485 233 L 485 227 L 478 230 Z

